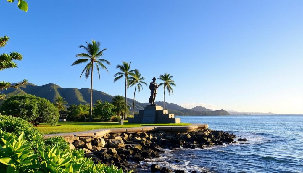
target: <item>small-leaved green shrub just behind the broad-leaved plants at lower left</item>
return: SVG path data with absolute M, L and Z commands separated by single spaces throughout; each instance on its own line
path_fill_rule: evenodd
M 17 135 L 24 133 L 30 143 L 38 144 L 40 147 L 44 146 L 42 133 L 22 118 L 0 115 L 0 129 Z

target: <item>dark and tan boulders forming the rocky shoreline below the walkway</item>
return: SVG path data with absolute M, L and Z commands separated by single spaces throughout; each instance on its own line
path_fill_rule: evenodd
M 142 133 L 116 133 L 106 134 L 102 138 L 91 137 L 65 137 L 72 149 L 84 149 L 85 156 L 92 158 L 95 163 L 122 167 L 123 170 L 134 170 L 138 164 L 131 162 L 144 161 L 148 158 L 157 158 L 165 151 L 162 149 L 174 148 L 204 148 L 211 145 L 224 145 L 235 143 L 234 134 L 211 129 L 198 129 L 191 132 L 153 131 Z M 178 162 L 176 160 L 175 162 Z M 184 170 L 170 170 L 151 165 L 151 171 L 177 172 Z

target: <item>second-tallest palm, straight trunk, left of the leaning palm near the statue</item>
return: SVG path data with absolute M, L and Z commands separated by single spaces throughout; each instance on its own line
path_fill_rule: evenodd
M 133 74 L 133 72 L 135 70 L 131 70 L 131 64 L 132 62 L 130 62 L 128 64 L 128 62 L 124 62 L 122 61 L 122 65 L 117 65 L 116 68 L 118 68 L 121 72 L 118 72 L 114 75 L 115 79 L 114 82 L 118 81 L 119 79 L 121 79 L 123 76 L 125 77 L 125 107 L 127 108 L 127 98 L 126 98 L 126 88 L 128 88 L 129 86 L 129 79 L 128 79 L 128 75 Z M 118 77 L 117 77 L 118 76 Z M 124 112 L 124 116 L 123 116 L 123 120 L 126 118 L 126 110 Z

